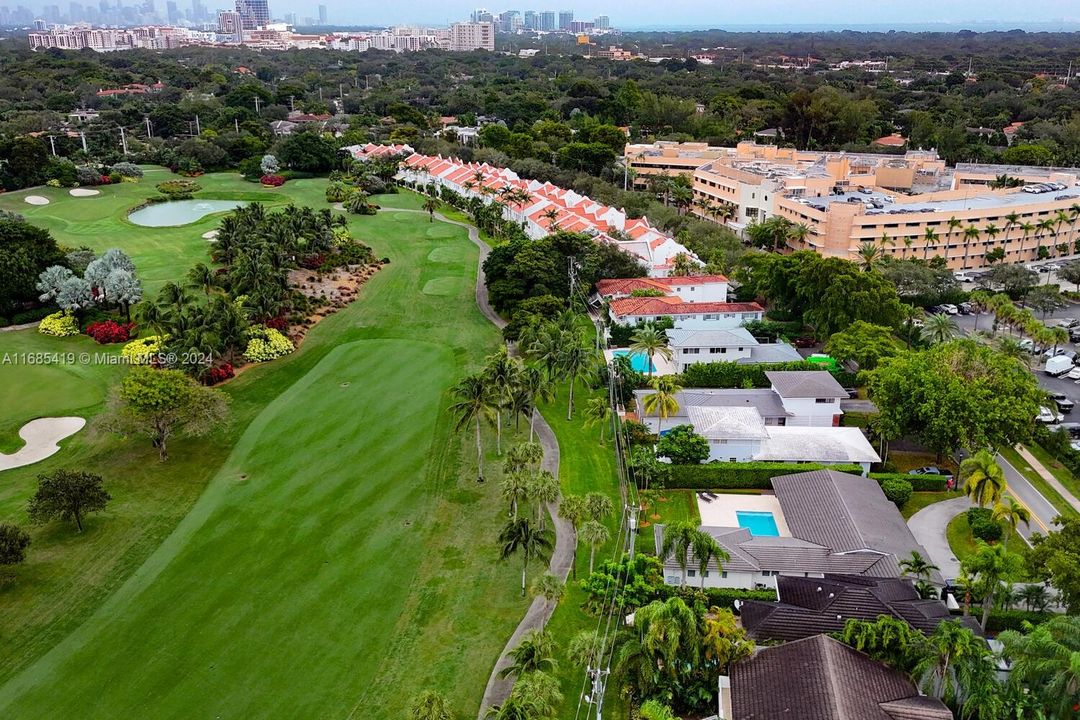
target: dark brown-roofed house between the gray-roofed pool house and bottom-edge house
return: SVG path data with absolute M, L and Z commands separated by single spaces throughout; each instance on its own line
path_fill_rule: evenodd
M 921 597 L 906 578 L 825 573 L 823 578 L 777 578 L 777 601 L 743 601 L 742 625 L 755 640 L 789 642 L 838 633 L 849 620 L 873 622 L 881 615 L 931 634 L 943 622 L 959 622 L 976 635 L 974 617 L 954 617 L 937 598 Z

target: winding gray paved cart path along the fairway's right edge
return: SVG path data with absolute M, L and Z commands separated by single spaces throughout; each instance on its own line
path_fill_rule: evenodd
M 428 214 L 427 210 L 391 207 L 384 207 L 380 212 L 418 213 L 421 215 Z M 464 228 L 469 232 L 469 240 L 471 240 L 473 244 L 480 248 L 480 261 L 476 268 L 476 307 L 480 308 L 480 311 L 491 322 L 492 325 L 501 330 L 505 327 L 507 321 L 502 320 L 502 317 L 499 316 L 499 313 L 495 312 L 495 309 L 491 308 L 491 303 L 487 296 L 487 284 L 485 283 L 484 277 L 484 260 L 487 259 L 488 253 L 491 252 L 491 248 L 488 247 L 487 243 L 480 239 L 480 231 L 474 226 L 467 222 L 459 222 L 458 220 L 451 220 L 441 213 L 435 213 L 435 218 L 448 225 Z M 532 418 L 536 423 L 537 439 L 543 448 L 543 460 L 541 461 L 540 466 L 555 477 L 558 477 L 558 440 L 555 438 L 555 433 L 539 411 L 534 410 Z M 551 562 L 549 563 L 548 569 L 551 574 L 565 582 L 567 575 L 570 573 L 570 565 L 573 561 L 573 546 L 576 544 L 576 538 L 573 527 L 558 516 L 558 500 L 553 503 L 548 503 L 548 513 L 551 515 L 552 522 L 555 527 L 555 549 L 551 554 Z M 483 718 L 487 715 L 488 708 L 504 703 L 510 696 L 510 691 L 514 689 L 514 680 L 512 678 L 499 677 L 499 673 L 502 668 L 510 665 L 510 651 L 516 648 L 522 641 L 522 638 L 524 638 L 528 633 L 543 628 L 554 611 L 555 603 L 548 602 L 546 598 L 542 595 L 538 595 L 532 598 L 532 603 L 525 612 L 525 616 L 522 619 L 522 622 L 517 624 L 513 635 L 510 636 L 510 640 L 502 649 L 502 653 L 499 655 L 498 662 L 496 662 L 495 667 L 491 669 L 491 677 L 488 678 L 487 688 L 484 690 L 484 699 L 480 704 L 480 714 L 477 717 L 481 718 L 481 720 L 483 720 Z

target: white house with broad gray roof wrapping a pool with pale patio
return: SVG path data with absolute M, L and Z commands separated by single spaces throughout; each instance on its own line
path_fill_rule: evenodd
M 734 524 L 702 526 L 730 559 L 723 563 L 711 559 L 701 573 L 691 552 L 684 572 L 671 555 L 663 558 L 665 582 L 769 588 L 782 575 L 900 578 L 901 559 L 913 552 L 929 557 L 877 480 L 821 470 L 774 477 L 772 488 L 777 534 L 754 534 L 751 528 Z M 712 502 L 734 504 L 739 499 L 720 493 Z M 654 525 L 658 556 L 663 539 L 664 526 Z M 932 580 L 941 582 L 936 574 Z

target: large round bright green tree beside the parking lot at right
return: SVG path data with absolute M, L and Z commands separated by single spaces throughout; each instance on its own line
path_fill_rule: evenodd
M 1043 398 L 1026 367 L 972 340 L 886 358 L 868 388 L 885 437 L 916 437 L 940 454 L 1015 445 Z

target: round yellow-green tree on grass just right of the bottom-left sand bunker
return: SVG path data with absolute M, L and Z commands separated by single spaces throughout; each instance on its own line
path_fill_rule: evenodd
M 114 394 L 108 424 L 150 437 L 161 462 L 177 432 L 197 437 L 225 423 L 225 393 L 204 388 L 179 370 L 133 367 Z

